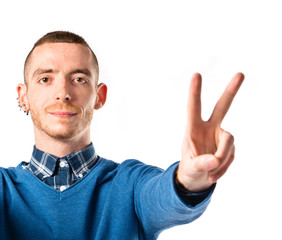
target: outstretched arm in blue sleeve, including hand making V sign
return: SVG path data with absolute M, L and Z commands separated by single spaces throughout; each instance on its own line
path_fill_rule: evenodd
M 243 79 L 241 73 L 234 76 L 211 118 L 204 122 L 201 119 L 201 76 L 193 76 L 180 163 L 172 165 L 162 174 L 143 174 L 143 179 L 137 184 L 136 213 L 147 236 L 157 236 L 166 228 L 189 223 L 207 208 L 214 183 L 234 159 L 233 136 L 220 125 Z M 183 189 L 177 189 L 177 181 Z M 205 197 L 202 198 L 202 194 Z M 193 203 L 191 198 L 194 198 Z

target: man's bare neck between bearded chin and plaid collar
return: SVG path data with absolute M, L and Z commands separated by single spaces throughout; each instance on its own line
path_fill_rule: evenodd
M 34 136 L 37 149 L 60 158 L 83 149 L 90 144 L 89 128 L 73 138 L 57 139 L 34 127 Z

